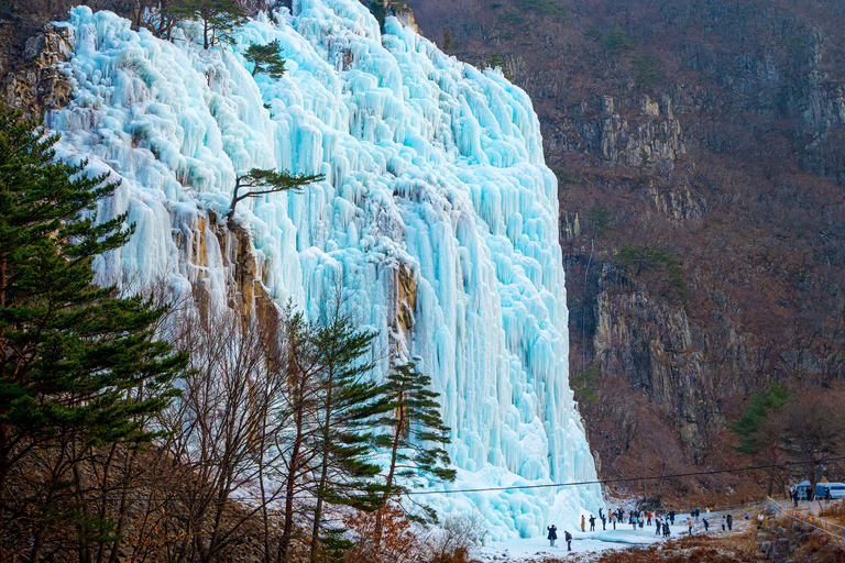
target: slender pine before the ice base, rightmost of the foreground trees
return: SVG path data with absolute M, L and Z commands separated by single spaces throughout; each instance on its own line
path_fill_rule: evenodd
M 382 423 L 391 429 L 389 435 L 377 437 L 376 443 L 391 453 L 387 466 L 388 495 L 406 493 L 403 483 L 414 484 L 419 477 L 434 477 L 453 482 L 456 472 L 449 467 L 449 454 L 442 448 L 451 442 L 450 429 L 440 418 L 440 394 L 429 390 L 431 377 L 418 368 L 418 360 L 398 364 L 387 376 L 386 408 L 393 413 Z M 376 515 L 376 540 L 381 536 L 381 515 Z

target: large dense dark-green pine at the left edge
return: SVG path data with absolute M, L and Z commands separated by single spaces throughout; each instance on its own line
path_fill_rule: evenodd
M 4 538 L 34 534 L 30 561 L 39 560 L 47 521 L 17 526 L 26 515 L 7 498 L 13 482 L 59 497 L 74 483 L 69 451 L 149 441 L 142 419 L 176 395 L 171 382 L 186 364 L 153 338 L 162 309 L 94 285 L 95 256 L 123 245 L 132 229 L 122 228 L 125 216 L 91 219 L 117 184 L 87 175 L 87 163 L 57 162 L 57 140 L 0 108 L 0 528 Z M 42 483 L 20 481 L 26 467 L 32 475 L 35 452 L 46 452 L 55 471 Z M 33 504 L 29 514 L 75 518 L 80 536 L 113 528 L 67 504 Z M 0 560 L 8 547 L 0 540 Z

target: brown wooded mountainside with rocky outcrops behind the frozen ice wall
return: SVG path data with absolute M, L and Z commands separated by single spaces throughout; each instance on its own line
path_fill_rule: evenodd
M 841 3 L 409 4 L 535 99 L 561 180 L 570 366 L 604 472 L 626 451 L 641 471 L 648 450 L 608 432 L 637 422 L 607 410 L 655 413 L 704 462 L 747 394 L 843 376 Z

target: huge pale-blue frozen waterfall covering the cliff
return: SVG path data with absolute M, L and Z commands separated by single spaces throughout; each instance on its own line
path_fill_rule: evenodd
M 109 12 L 72 12 L 65 70 L 75 95 L 48 124 L 63 134 L 62 156 L 88 157 L 122 179 L 99 217 L 128 211 L 136 225 L 125 247 L 98 261 L 98 275 L 164 276 L 223 301 L 230 250 L 205 218 L 226 214 L 235 176 L 252 167 L 325 174 L 301 194 L 238 207 L 270 295 L 314 313 L 342 275 L 380 344 L 422 358 L 461 470 L 448 488 L 595 478 L 568 384 L 557 181 L 530 100 L 394 19 L 382 35 L 354 0 L 296 9 L 208 52 L 131 31 Z M 243 52 L 273 40 L 285 49 L 285 77 L 253 78 Z M 402 329 L 398 285 L 414 292 Z M 502 539 L 574 525 L 582 510 L 595 512 L 601 493 L 424 499 L 441 514 L 478 508 L 489 539 Z

